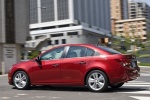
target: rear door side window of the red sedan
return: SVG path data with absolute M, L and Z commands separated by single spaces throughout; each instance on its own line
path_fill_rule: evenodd
M 80 46 L 71 46 L 67 53 L 67 58 L 84 57 L 86 48 Z

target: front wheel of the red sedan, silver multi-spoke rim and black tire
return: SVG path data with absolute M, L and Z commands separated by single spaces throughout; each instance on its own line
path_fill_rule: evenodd
M 24 71 L 17 71 L 13 75 L 13 84 L 18 90 L 26 90 L 30 87 L 30 79 Z

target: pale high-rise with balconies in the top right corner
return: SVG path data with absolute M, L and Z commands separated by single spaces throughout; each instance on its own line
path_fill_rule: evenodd
M 129 18 L 146 18 L 150 20 L 150 6 L 145 2 L 129 1 Z

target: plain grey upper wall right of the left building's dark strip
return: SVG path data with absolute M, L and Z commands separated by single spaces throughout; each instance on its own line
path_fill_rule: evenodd
M 15 0 L 16 43 L 23 44 L 29 36 L 29 0 Z

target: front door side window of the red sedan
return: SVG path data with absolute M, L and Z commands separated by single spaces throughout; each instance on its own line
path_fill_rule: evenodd
M 64 47 L 53 49 L 41 56 L 41 60 L 60 59 L 62 57 Z

